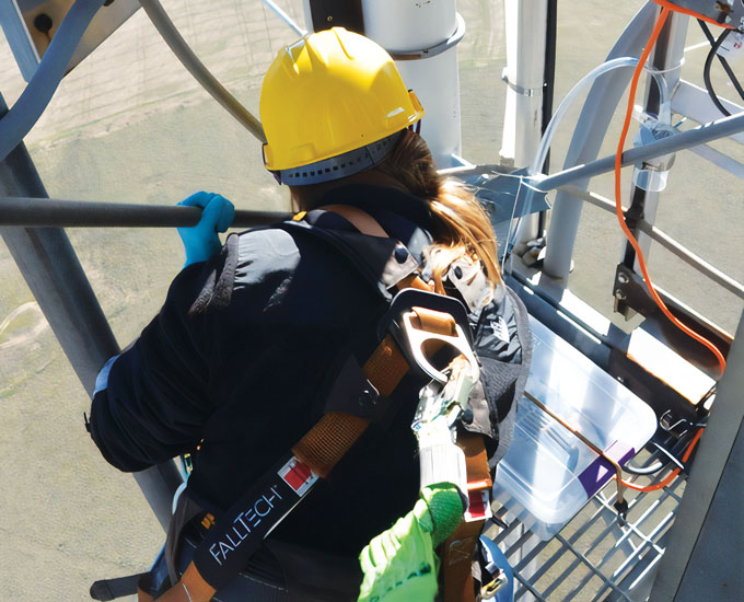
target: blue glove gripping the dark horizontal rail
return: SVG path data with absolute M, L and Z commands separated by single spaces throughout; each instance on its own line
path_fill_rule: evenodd
M 178 205 L 200 207 L 201 219 L 191 228 L 178 228 L 178 235 L 186 250 L 184 267 L 206 262 L 220 252 L 222 243 L 218 232 L 230 228 L 235 217 L 235 207 L 226 198 L 213 193 L 196 193 Z

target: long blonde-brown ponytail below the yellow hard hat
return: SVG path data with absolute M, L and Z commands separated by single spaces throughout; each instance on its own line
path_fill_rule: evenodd
M 492 285 L 502 281 L 496 234 L 488 215 L 470 188 L 437 172 L 429 147 L 419 135 L 406 130 L 390 157 L 376 169 L 429 204 L 434 218 L 431 232 L 434 244 L 429 250 L 428 267 L 438 292 L 444 292 L 443 276 L 461 257 L 472 262 L 479 259 Z

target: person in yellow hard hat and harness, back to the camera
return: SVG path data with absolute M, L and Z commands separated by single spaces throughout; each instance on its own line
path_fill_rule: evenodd
M 427 600 L 440 564 L 446 600 L 490 580 L 477 543 L 526 380 L 526 311 L 488 216 L 437 172 L 423 113 L 379 45 L 307 35 L 260 96 L 265 164 L 299 212 L 221 245 L 232 205 L 183 201 L 204 209 L 179 230 L 186 266 L 102 369 L 90 416 L 121 471 L 191 460 L 140 601 L 385 600 L 418 577 L 408 599 Z

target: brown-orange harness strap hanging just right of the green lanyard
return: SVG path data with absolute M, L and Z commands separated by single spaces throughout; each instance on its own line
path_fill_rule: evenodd
M 461 433 L 457 444 L 465 452 L 468 491 L 490 490 L 492 486 L 488 455 L 481 435 Z M 467 522 L 463 519 L 454 533 L 442 544 L 442 580 L 444 602 L 475 602 L 473 558 L 485 520 Z

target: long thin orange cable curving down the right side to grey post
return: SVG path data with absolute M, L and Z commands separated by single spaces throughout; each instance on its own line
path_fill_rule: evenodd
M 658 1 L 658 0 L 656 0 Z M 666 22 L 667 16 L 670 15 L 671 10 L 667 7 L 662 8 L 661 14 L 659 15 L 659 20 L 656 21 L 656 25 L 653 28 L 653 33 L 651 34 L 651 37 L 649 38 L 648 44 L 646 45 L 646 48 L 643 49 L 643 53 L 641 54 L 640 59 L 638 60 L 638 66 L 636 67 L 636 71 L 633 72 L 632 81 L 630 83 L 630 94 L 628 97 L 628 111 L 625 116 L 625 123 L 623 124 L 623 132 L 620 134 L 620 141 L 617 146 L 617 153 L 615 154 L 615 212 L 617 215 L 617 219 L 620 223 L 620 228 L 623 229 L 623 232 L 625 233 L 625 236 L 628 239 L 628 242 L 630 245 L 633 247 L 636 251 L 636 256 L 638 257 L 638 264 L 641 268 L 641 273 L 643 274 L 643 278 L 646 279 L 646 285 L 649 289 L 649 292 L 651 293 L 652 299 L 659 305 L 659 309 L 666 315 L 666 317 L 670 319 L 670 321 L 677 326 L 682 332 L 700 343 L 701 345 L 705 345 L 708 349 L 712 351 L 712 354 L 716 356 L 716 359 L 718 360 L 720 367 L 721 367 L 721 373 L 725 370 L 725 359 L 723 358 L 723 355 L 721 351 L 707 338 L 700 336 L 697 334 L 695 331 L 683 324 L 679 320 L 677 320 L 672 312 L 666 308 L 664 304 L 664 301 L 662 301 L 661 297 L 659 297 L 659 293 L 656 292 L 656 289 L 653 287 L 653 283 L 651 282 L 651 277 L 649 276 L 649 271 L 646 267 L 646 259 L 643 257 L 643 253 L 641 252 L 641 248 L 638 244 L 638 241 L 636 238 L 632 235 L 630 230 L 628 229 L 627 224 L 625 223 L 625 217 L 623 215 L 623 206 L 620 204 L 621 201 L 621 192 L 620 192 L 620 170 L 623 167 L 623 149 L 625 148 L 625 141 L 628 137 L 628 130 L 630 129 L 630 121 L 632 119 L 632 109 L 633 109 L 633 103 L 636 100 L 636 92 L 638 91 L 638 83 L 640 81 L 641 73 L 643 72 L 643 67 L 646 65 L 646 61 L 649 58 L 649 55 L 651 54 L 651 49 L 656 43 L 656 39 L 659 38 L 659 35 L 661 34 L 662 27 L 664 26 L 664 23 Z

